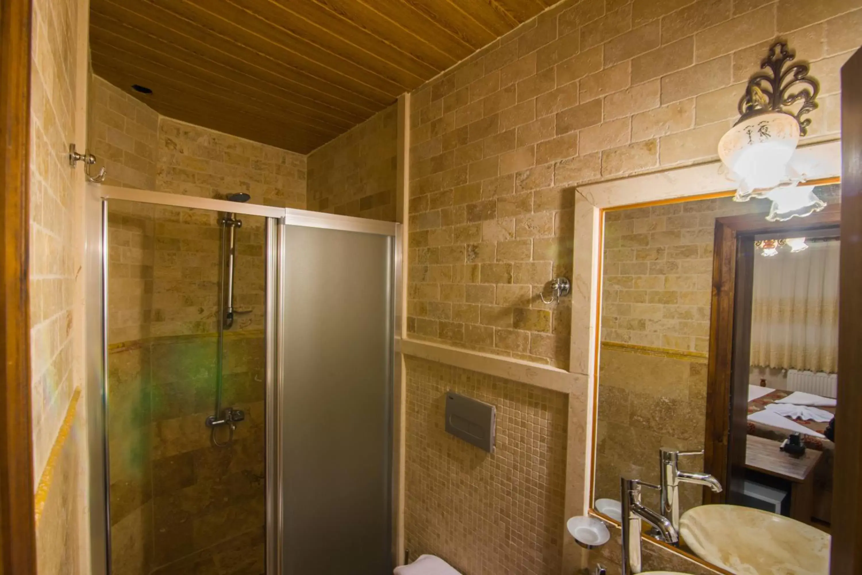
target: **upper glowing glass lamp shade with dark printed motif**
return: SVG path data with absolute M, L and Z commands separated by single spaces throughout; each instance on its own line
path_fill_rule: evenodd
M 740 122 L 718 143 L 718 155 L 739 184 L 736 200 L 764 197 L 787 177 L 799 142 L 799 122 L 782 112 L 766 112 Z

